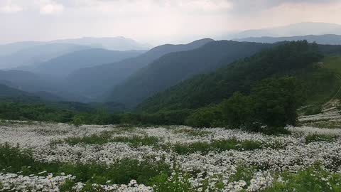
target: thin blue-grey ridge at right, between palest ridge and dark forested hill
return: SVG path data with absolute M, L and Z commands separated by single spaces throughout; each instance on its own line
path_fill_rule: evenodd
M 321 36 L 293 36 L 293 37 L 249 37 L 237 38 L 234 41 L 256 42 L 256 43 L 276 43 L 281 41 L 302 41 L 306 40 L 310 43 L 318 43 L 321 45 L 341 45 L 341 36 L 338 35 L 321 35 Z

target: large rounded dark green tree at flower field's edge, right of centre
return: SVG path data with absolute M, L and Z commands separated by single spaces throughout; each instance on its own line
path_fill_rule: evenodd
M 305 100 L 303 84 L 293 77 L 269 78 L 251 92 L 256 119 L 269 127 L 296 124 L 296 110 Z

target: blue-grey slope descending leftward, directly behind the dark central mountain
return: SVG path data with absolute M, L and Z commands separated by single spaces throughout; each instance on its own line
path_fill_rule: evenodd
M 85 68 L 70 74 L 65 81 L 69 90 L 86 95 L 87 97 L 100 97 L 104 92 L 109 91 L 129 75 L 167 53 L 184 50 L 193 50 L 204 46 L 212 39 L 202 39 L 185 45 L 163 45 L 149 50 L 148 52 L 128 58 L 117 63 L 99 65 L 93 68 Z

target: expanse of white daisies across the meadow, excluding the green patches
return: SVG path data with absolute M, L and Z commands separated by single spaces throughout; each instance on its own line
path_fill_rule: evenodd
M 335 114 L 336 115 L 336 114 Z M 308 117 L 307 117 L 308 118 Z M 98 162 L 111 164 L 119 159 L 138 159 L 139 161 L 165 161 L 172 171 L 180 169 L 188 174 L 188 181 L 195 191 L 203 191 L 207 183 L 210 191 L 217 191 L 223 183 L 224 191 L 259 191 L 271 186 L 274 178 L 271 174 L 281 171 L 298 171 L 320 162 L 330 171 L 341 171 L 341 138 L 334 142 L 311 142 L 305 144 L 308 134 L 341 135 L 341 129 L 320 129 L 314 127 L 287 127 L 294 132 L 288 136 L 266 136 L 264 134 L 242 132 L 231 129 L 193 129 L 190 127 L 149 127 L 135 129 L 120 129 L 115 126 L 81 126 L 73 127 L 67 124 L 33 124 L 0 127 L 0 144 L 8 142 L 12 146 L 19 144 L 22 148 L 31 149 L 37 161 L 60 161 L 82 163 Z M 120 130 L 120 131 L 118 131 Z M 129 146 L 127 143 L 109 142 L 106 144 L 50 144 L 51 140 L 67 137 L 83 137 L 91 134 L 101 134 L 104 131 L 112 133 L 112 137 L 158 137 L 159 146 L 174 144 L 192 144 L 220 139 L 236 138 L 239 141 L 259 142 L 262 149 L 209 151 L 193 154 L 177 154 L 172 148 L 159 146 Z M 272 147 L 274 146 L 274 147 Z M 247 182 L 230 181 L 240 165 L 256 167 L 254 177 Z M 195 174 L 193 174 L 195 173 Z M 1 174 L 0 183 L 4 189 L 48 188 L 57 190 L 60 183 L 72 176 L 55 176 L 50 179 L 38 176 L 17 176 Z M 1 186 L 1 185 L 0 185 Z M 84 183 L 77 183 L 76 191 L 80 191 Z M 102 191 L 152 191 L 148 186 L 138 185 L 131 181 L 128 185 L 97 185 L 92 186 Z M 1 190 L 1 189 L 0 189 Z

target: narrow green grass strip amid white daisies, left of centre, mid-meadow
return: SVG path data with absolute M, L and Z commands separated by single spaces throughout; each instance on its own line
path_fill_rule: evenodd
M 107 144 L 109 142 L 119 142 L 119 143 L 126 143 L 129 146 L 136 147 L 136 146 L 156 146 L 159 142 L 158 137 L 153 136 L 136 136 L 133 135 L 132 137 L 112 137 L 112 132 L 102 132 L 101 134 L 92 134 L 86 137 L 68 137 L 63 140 L 53 141 L 51 144 L 61 144 L 66 143 L 70 145 L 76 144 Z

